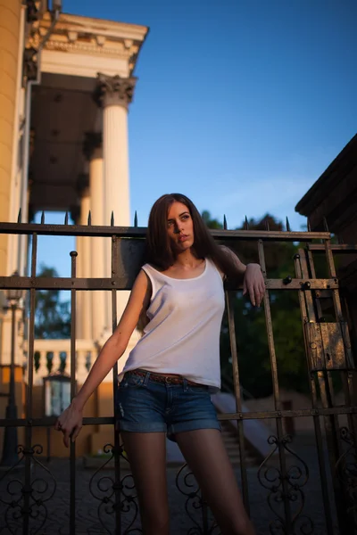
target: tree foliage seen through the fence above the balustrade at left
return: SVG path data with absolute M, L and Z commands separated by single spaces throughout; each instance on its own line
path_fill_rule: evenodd
M 41 265 L 38 276 L 56 277 L 55 268 Z M 70 302 L 62 301 L 59 290 L 36 292 L 35 337 L 65 339 L 71 337 Z

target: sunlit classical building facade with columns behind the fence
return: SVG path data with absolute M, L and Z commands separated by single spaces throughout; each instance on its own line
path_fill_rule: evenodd
M 28 222 L 38 210 L 56 210 L 71 213 L 78 225 L 87 225 L 89 217 L 95 226 L 111 221 L 128 226 L 128 108 L 148 29 L 64 13 L 58 0 L 0 0 L 0 21 L 0 220 Z M 77 276 L 110 276 L 110 244 L 104 238 L 93 243 L 81 236 L 76 250 Z M 0 276 L 26 275 L 27 258 L 26 236 L 0 235 Z M 12 320 L 1 293 L 0 366 L 6 383 Z M 126 293 L 118 297 L 119 313 Z M 110 292 L 78 294 L 79 383 L 87 374 L 86 363 L 93 362 L 111 333 L 110 299 Z M 22 318 L 20 307 L 15 349 L 18 407 L 23 404 L 21 370 L 27 354 Z M 36 343 L 34 395 L 42 410 L 46 356 L 51 354 L 55 370 L 68 342 Z M 96 399 L 98 414 L 111 403 L 105 400 L 109 388 L 108 378 L 103 395 Z

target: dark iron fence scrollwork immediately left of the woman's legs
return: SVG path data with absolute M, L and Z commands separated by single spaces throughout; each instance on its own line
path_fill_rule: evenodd
M 120 498 L 120 504 L 117 504 L 115 500 L 115 490 L 117 489 L 112 476 L 104 475 L 101 478 L 96 479 L 96 476 L 102 470 L 104 470 L 108 463 L 112 461 L 116 453 L 112 444 L 105 444 L 103 450 L 104 453 L 111 455 L 105 460 L 104 464 L 95 471 L 89 481 L 89 491 L 91 495 L 100 502 L 97 508 L 97 518 L 105 532 L 111 534 L 112 528 L 109 528 L 104 523 L 104 519 L 105 517 L 106 519 L 108 519 L 108 517 L 110 518 L 113 514 L 115 514 L 117 508 L 120 507 L 120 513 L 130 514 L 131 516 L 129 525 L 125 529 L 124 533 L 141 533 L 141 530 L 133 528 L 133 524 L 136 522 L 139 512 L 133 476 L 131 474 L 127 474 L 120 481 L 120 496 L 123 497 Z M 120 446 L 119 456 L 129 463 L 128 459 L 124 456 L 123 451 L 123 447 Z

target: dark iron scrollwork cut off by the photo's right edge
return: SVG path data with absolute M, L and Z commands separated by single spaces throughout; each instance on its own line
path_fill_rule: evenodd
M 357 530 L 357 449 L 353 432 L 341 427 L 340 437 L 347 445 L 345 452 L 336 462 L 336 475 L 341 481 L 347 498 L 347 514 Z

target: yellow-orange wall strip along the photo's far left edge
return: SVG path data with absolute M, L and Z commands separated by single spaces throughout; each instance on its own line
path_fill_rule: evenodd
M 21 0 L 0 0 L 0 221 L 9 220 Z M 6 235 L 0 235 L 0 275 L 6 274 Z

